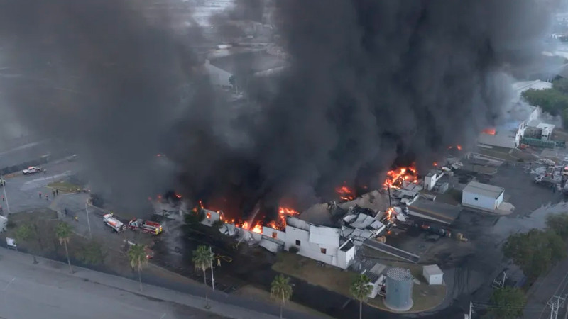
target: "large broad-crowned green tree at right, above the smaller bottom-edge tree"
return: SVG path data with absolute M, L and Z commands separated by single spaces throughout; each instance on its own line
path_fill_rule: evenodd
M 531 229 L 510 235 L 503 245 L 503 254 L 513 259 L 525 276 L 535 279 L 566 257 L 566 244 L 552 230 Z

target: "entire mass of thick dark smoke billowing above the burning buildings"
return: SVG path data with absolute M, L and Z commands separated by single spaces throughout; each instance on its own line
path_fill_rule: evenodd
M 23 74 L 0 82 L 4 100 L 80 147 L 92 178 L 129 203 L 164 187 L 153 161 L 165 152 L 185 195 L 239 213 L 259 200 L 302 208 L 344 181 L 378 186 L 393 163 L 430 166 L 472 145 L 510 99 L 506 74 L 540 57 L 551 11 L 536 0 L 276 1 L 291 67 L 253 81 L 251 105 L 234 111 L 199 72 L 198 33 L 173 32 L 168 14 L 150 23 L 134 2 L 1 2 L 1 63 Z

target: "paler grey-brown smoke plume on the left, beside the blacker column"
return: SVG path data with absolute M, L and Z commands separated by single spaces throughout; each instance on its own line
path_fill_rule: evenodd
M 189 47 L 199 38 L 136 2 L 0 2 L 0 63 L 15 74 L 0 81 L 3 103 L 77 150 L 94 189 L 129 205 L 170 183 L 156 155 L 173 145 L 178 118 L 215 103 Z

